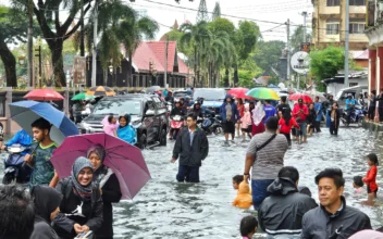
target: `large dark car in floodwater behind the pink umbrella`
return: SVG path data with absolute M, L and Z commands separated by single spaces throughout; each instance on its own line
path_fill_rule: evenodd
M 131 114 L 132 126 L 137 130 L 137 147 L 166 144 L 169 117 L 165 103 L 156 95 L 122 95 L 106 97 L 95 106 L 91 114 L 79 124 L 81 134 L 101 133 L 101 121 L 106 115 Z

